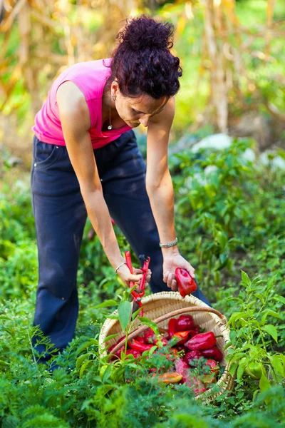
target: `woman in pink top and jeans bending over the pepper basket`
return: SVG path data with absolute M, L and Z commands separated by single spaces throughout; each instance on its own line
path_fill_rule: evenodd
M 195 276 L 178 250 L 167 166 L 182 76 L 180 60 L 169 50 L 172 34 L 171 24 L 147 16 L 127 20 L 113 57 L 61 73 L 36 115 L 31 193 L 39 281 L 33 324 L 59 350 L 76 327 L 76 273 L 87 215 L 125 285 L 138 282 L 142 271 L 132 275 L 125 265 L 110 215 L 135 254 L 150 256 L 152 292 L 177 290 L 176 267 Z M 132 131 L 140 123 L 147 127 L 147 168 Z M 199 290 L 197 296 L 207 302 Z

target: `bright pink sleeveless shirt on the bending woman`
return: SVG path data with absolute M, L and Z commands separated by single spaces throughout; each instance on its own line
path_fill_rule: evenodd
M 111 58 L 105 59 L 109 65 Z M 102 123 L 102 96 L 105 82 L 110 76 L 110 68 L 104 66 L 103 59 L 86 61 L 71 66 L 63 71 L 53 82 L 48 97 L 40 111 L 36 114 L 35 125 L 32 130 L 43 143 L 66 146 L 56 103 L 56 91 L 61 83 L 72 81 L 78 86 L 86 98 L 89 108 L 91 128 L 89 130 L 93 148 L 100 148 L 118 138 L 122 133 L 130 131 L 130 126 L 101 131 Z

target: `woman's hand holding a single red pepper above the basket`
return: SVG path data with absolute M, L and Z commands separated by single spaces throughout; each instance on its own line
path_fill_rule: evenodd
M 167 287 L 172 291 L 177 291 L 177 282 L 175 280 L 176 267 L 182 267 L 190 273 L 192 278 L 195 278 L 195 269 L 190 263 L 185 260 L 180 254 L 166 255 L 163 258 L 163 282 L 167 283 Z

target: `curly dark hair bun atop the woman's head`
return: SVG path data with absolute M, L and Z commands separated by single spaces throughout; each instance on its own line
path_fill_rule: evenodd
M 117 39 L 130 51 L 171 49 L 173 31 L 174 26 L 169 22 L 162 24 L 151 16 L 140 15 L 138 18 L 126 19 L 125 27 L 118 33 Z

